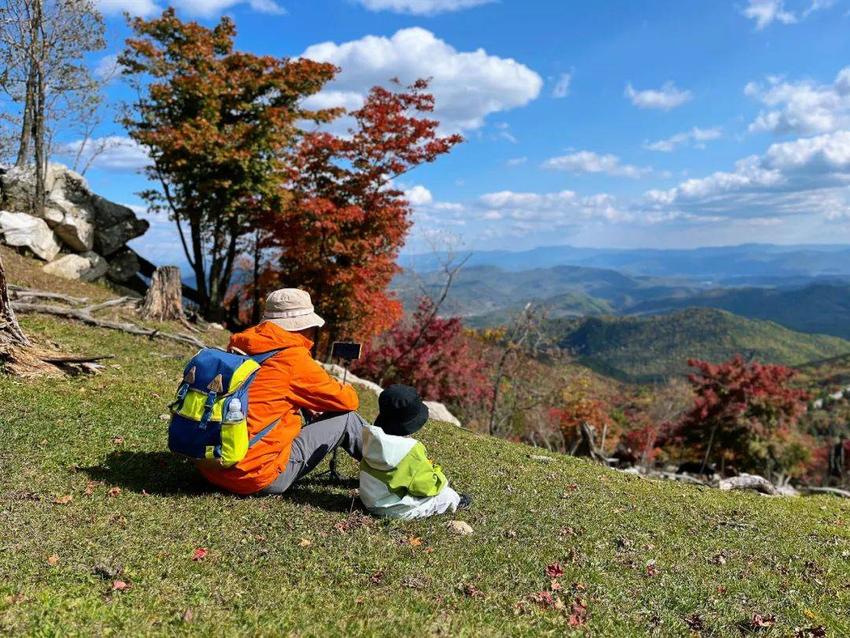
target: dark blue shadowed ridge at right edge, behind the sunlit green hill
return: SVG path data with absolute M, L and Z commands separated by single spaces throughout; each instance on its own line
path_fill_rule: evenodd
M 799 332 L 850 339 L 850 285 L 840 283 L 715 289 L 684 298 L 642 302 L 628 312 L 659 314 L 687 307 L 720 308 L 750 319 L 775 321 Z

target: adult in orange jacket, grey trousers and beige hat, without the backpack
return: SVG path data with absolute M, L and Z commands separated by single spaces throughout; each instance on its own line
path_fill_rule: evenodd
M 357 393 L 331 377 L 310 354 L 325 323 L 303 290 L 276 290 L 259 325 L 230 338 L 229 349 L 249 355 L 280 350 L 266 359 L 248 389 L 248 434 L 278 425 L 236 465 L 201 465 L 206 479 L 236 494 L 282 494 L 337 446 L 360 460 L 365 421 L 355 412 Z M 312 423 L 302 427 L 301 411 Z

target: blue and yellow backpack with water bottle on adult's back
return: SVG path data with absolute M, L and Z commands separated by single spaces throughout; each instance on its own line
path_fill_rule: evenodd
M 280 421 L 248 438 L 248 388 L 262 363 L 278 352 L 249 356 L 205 348 L 192 357 L 171 404 L 168 448 L 214 467 L 245 458 Z

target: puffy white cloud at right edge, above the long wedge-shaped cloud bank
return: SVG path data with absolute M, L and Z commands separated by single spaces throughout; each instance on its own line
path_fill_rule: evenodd
M 744 93 L 767 107 L 750 124 L 750 132 L 807 135 L 850 127 L 850 66 L 832 84 L 771 77 L 765 84 L 748 83 Z

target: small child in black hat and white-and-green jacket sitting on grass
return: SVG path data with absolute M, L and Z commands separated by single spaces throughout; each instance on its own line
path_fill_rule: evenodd
M 387 518 L 424 518 L 468 507 L 425 446 L 410 438 L 428 420 L 428 406 L 416 390 L 392 385 L 378 397 L 375 425 L 363 427 L 360 499 L 372 514 Z

